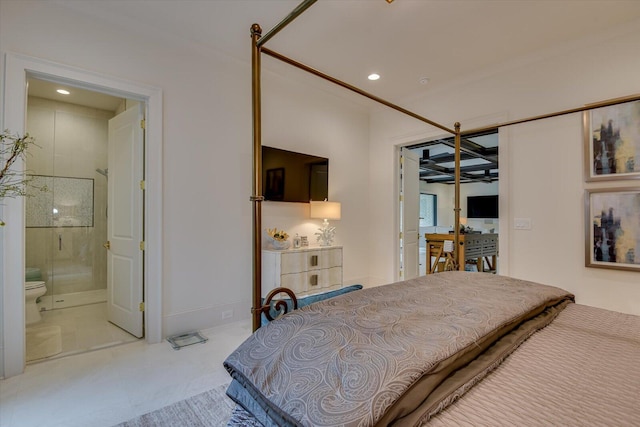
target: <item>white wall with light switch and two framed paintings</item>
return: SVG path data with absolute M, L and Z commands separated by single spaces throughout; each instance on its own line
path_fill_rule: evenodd
M 476 81 L 433 91 L 407 108 L 453 128 L 496 123 L 640 93 L 640 23 L 594 36 L 538 57 L 514 60 Z M 500 269 L 502 273 L 564 287 L 579 303 L 640 314 L 640 273 L 586 268 L 585 184 L 581 114 L 500 131 Z M 505 121 L 505 120 L 502 120 Z M 395 145 L 433 134 L 420 122 L 380 109 L 371 119 L 371 217 L 383 241 L 371 248 L 371 275 L 393 279 L 396 199 Z M 637 181 L 617 185 L 637 186 Z M 531 218 L 530 231 L 513 230 L 513 218 Z

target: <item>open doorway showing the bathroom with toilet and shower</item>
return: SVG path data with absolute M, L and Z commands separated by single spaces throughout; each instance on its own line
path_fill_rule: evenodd
M 142 235 L 137 206 L 142 204 L 143 193 L 138 182 L 121 181 L 121 177 L 143 176 L 142 158 L 123 162 L 109 156 L 111 146 L 123 139 L 116 139 L 119 133 L 113 123 L 140 123 L 141 107 L 135 100 L 28 79 L 27 132 L 36 144 L 25 160 L 31 184 L 25 199 L 25 281 L 41 281 L 46 291 L 36 300 L 40 316 L 34 318 L 34 311 L 27 310 L 27 362 L 143 336 L 137 303 L 132 321 L 123 321 L 112 312 L 112 307 L 121 305 L 113 301 L 118 294 L 112 289 L 114 283 L 120 285 L 120 293 L 124 286 L 142 293 L 141 259 L 134 258 L 131 263 L 138 264 L 138 274 L 123 275 L 134 277 L 136 283 L 120 284 L 120 279 L 112 277 L 111 251 L 106 243 L 113 235 L 114 218 L 125 218 L 133 225 L 133 234 Z M 127 119 L 129 116 L 133 119 Z M 127 144 L 126 136 L 124 140 Z M 141 153 L 144 140 L 142 136 L 138 140 Z M 126 146 L 117 148 L 130 152 Z M 133 170 L 121 170 L 109 181 L 109 170 L 118 171 L 118 165 L 110 162 L 126 163 Z M 120 200 L 120 193 L 129 203 L 115 212 L 115 204 L 108 203 L 107 196 Z M 130 203 L 136 199 L 140 201 Z M 142 295 L 137 299 L 142 301 Z M 33 302 L 28 299 L 27 304 Z

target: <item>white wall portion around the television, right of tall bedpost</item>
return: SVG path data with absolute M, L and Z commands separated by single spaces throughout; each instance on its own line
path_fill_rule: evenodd
M 343 246 L 343 280 L 366 285 L 368 113 L 322 92 L 310 100 L 305 85 L 271 75 L 266 73 L 262 84 L 262 143 L 329 159 L 328 199 L 341 203 L 341 219 L 331 225 L 336 227 L 334 244 Z M 308 203 L 264 202 L 263 215 L 263 229 L 277 227 L 317 244 L 314 233 L 322 220 L 309 218 Z

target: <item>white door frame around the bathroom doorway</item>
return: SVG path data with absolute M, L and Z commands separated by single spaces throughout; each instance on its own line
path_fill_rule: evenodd
M 144 277 L 146 342 L 162 340 L 162 90 L 92 71 L 54 63 L 21 54 L 4 55 L 4 93 L 2 129 L 23 134 L 26 128 L 27 77 L 35 77 L 145 103 L 146 150 L 144 199 Z M 16 170 L 24 170 L 22 161 Z M 0 376 L 8 378 L 24 371 L 24 198 L 6 199 L 2 207 L 0 241 L 0 289 L 2 291 L 2 347 Z M 10 248 L 10 250 L 9 250 Z M 20 284 L 20 285 L 18 285 Z

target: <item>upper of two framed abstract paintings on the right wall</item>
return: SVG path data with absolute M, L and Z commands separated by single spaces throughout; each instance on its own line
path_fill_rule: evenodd
M 583 113 L 587 181 L 640 178 L 640 100 Z

